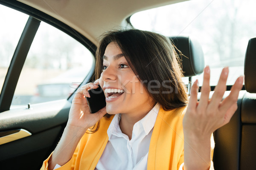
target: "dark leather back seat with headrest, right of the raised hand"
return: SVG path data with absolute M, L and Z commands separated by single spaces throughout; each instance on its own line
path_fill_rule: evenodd
M 256 169 L 256 38 L 250 39 L 244 63 L 244 85 L 230 122 L 215 131 L 215 170 Z M 228 95 L 228 92 L 225 96 Z

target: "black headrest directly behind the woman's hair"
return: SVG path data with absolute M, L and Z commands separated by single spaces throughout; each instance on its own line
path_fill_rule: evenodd
M 204 53 L 198 41 L 189 37 L 170 37 L 170 40 L 184 55 L 179 55 L 184 76 L 192 77 L 203 73 Z M 180 53 L 177 51 L 177 54 Z

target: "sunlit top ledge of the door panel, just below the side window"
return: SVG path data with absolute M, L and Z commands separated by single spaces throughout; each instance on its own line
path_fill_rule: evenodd
M 64 99 L 2 112 L 0 131 L 23 128 L 34 134 L 61 125 L 67 122 L 70 106 Z

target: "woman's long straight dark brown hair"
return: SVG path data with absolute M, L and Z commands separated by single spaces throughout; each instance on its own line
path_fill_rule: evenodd
M 134 74 L 143 81 L 148 94 L 164 110 L 187 105 L 188 95 L 181 80 L 180 63 L 174 45 L 168 38 L 137 29 L 107 32 L 102 35 L 96 51 L 96 79 L 102 73 L 102 57 L 110 42 L 119 46 Z M 149 90 L 149 83 L 158 87 Z

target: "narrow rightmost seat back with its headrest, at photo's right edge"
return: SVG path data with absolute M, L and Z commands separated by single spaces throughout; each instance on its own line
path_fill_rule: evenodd
M 247 93 L 241 105 L 241 154 L 242 170 L 256 169 L 256 38 L 248 42 L 244 64 L 244 85 Z

